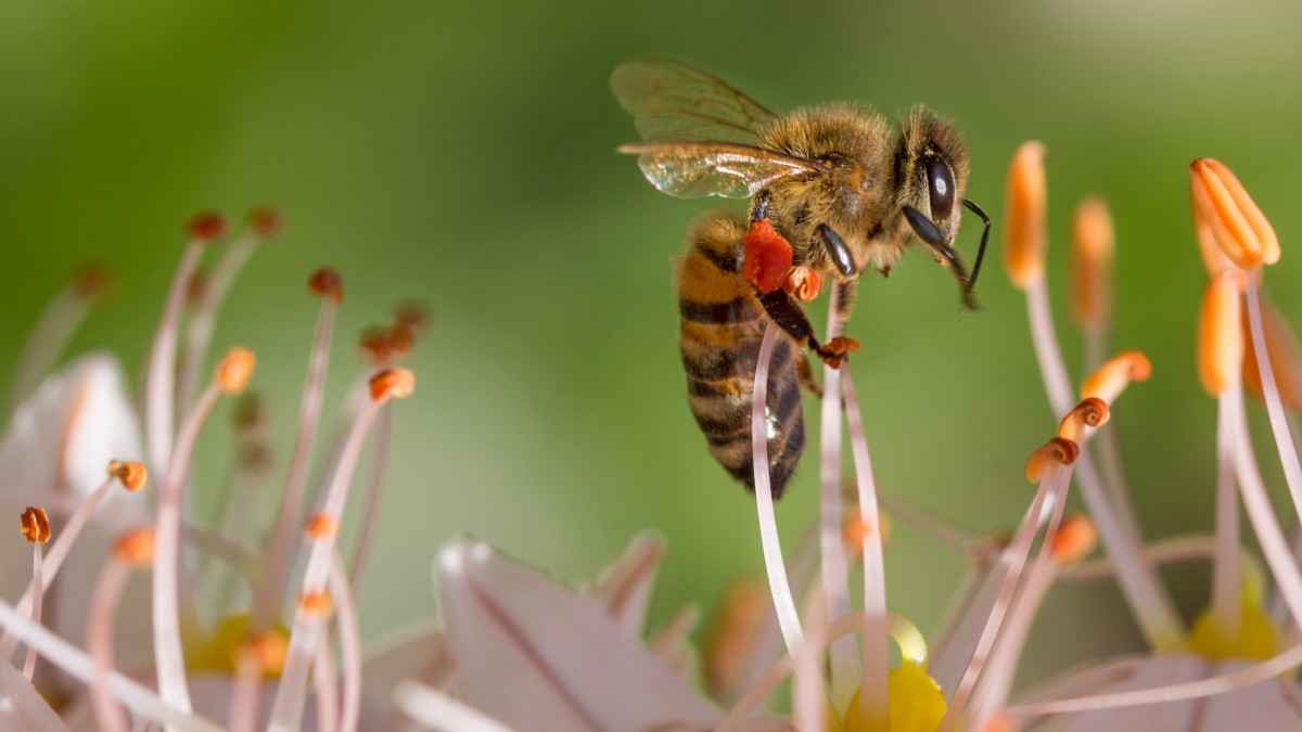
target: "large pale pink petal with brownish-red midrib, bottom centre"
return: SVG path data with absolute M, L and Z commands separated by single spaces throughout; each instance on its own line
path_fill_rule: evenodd
M 508 727 L 634 732 L 720 716 L 603 604 L 488 544 L 449 543 L 437 580 L 458 696 Z

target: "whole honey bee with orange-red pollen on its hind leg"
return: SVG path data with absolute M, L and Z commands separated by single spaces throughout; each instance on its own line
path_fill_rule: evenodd
M 967 152 L 924 107 L 896 129 L 849 104 L 776 115 L 716 77 L 659 60 L 620 65 L 611 87 L 643 141 L 618 151 L 638 156 L 651 185 L 676 197 L 750 199 L 745 219 L 713 212 L 687 232 L 677 270 L 682 363 L 710 452 L 754 490 L 755 365 L 768 324 L 785 332 L 766 395 L 780 498 L 805 447 L 801 387 L 819 393 L 805 348 L 832 367 L 858 348 L 846 337 L 820 343 L 798 301 L 814 300 L 827 279 L 844 323 L 859 274 L 888 275 L 917 240 L 953 274 L 963 306 L 976 307 L 990 218 L 963 198 Z M 953 247 L 960 204 L 986 225 L 971 275 Z

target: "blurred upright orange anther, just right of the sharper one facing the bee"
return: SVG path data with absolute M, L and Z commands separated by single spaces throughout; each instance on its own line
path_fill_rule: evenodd
M 1108 319 L 1113 246 L 1108 204 L 1086 198 L 1072 220 L 1072 314 L 1082 328 L 1101 328 Z

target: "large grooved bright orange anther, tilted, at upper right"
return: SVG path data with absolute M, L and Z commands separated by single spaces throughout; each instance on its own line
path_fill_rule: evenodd
M 1238 177 L 1211 158 L 1194 160 L 1189 169 L 1195 227 L 1207 225 L 1220 250 L 1243 270 L 1279 262 L 1275 228 Z

